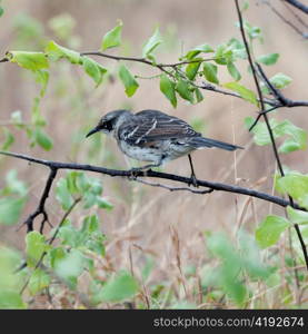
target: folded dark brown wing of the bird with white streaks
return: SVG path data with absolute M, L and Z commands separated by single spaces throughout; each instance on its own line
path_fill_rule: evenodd
M 201 136 L 186 121 L 158 110 L 142 110 L 119 128 L 119 136 L 131 145 L 147 145 L 163 139 Z

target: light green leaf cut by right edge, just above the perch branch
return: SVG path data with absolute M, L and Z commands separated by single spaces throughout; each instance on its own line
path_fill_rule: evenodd
M 308 176 L 289 174 L 277 180 L 279 189 L 289 194 L 299 205 L 308 208 Z

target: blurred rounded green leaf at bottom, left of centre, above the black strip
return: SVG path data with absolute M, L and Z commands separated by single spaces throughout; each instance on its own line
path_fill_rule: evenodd
M 103 302 L 122 302 L 133 297 L 138 292 L 137 281 L 127 272 L 109 279 L 100 292 Z

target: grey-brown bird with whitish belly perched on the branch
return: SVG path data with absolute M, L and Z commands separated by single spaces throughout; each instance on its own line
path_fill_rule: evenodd
M 220 148 L 232 151 L 244 148 L 202 137 L 185 120 L 152 109 L 137 114 L 126 109 L 109 111 L 86 137 L 99 131 L 113 136 L 120 150 L 130 158 L 151 163 L 139 168 L 131 168 L 132 173 L 160 167 L 165 163 L 187 155 L 193 186 L 198 186 L 190 155 L 193 150 Z

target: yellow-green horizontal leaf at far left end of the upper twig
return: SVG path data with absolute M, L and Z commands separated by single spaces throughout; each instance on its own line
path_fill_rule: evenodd
M 17 62 L 20 67 L 32 71 L 49 67 L 43 52 L 10 51 L 6 56 L 11 62 Z

